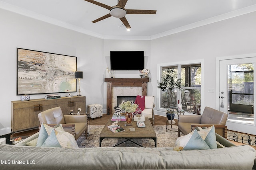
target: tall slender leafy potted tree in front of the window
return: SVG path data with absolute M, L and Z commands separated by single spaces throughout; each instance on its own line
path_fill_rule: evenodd
M 164 70 L 161 81 L 157 81 L 157 88 L 160 88 L 162 92 L 166 93 L 167 96 L 167 106 L 170 109 L 170 98 L 176 89 L 182 90 L 181 88 L 181 79 L 178 78 L 175 73 L 174 68 Z M 172 118 L 173 119 L 173 118 Z

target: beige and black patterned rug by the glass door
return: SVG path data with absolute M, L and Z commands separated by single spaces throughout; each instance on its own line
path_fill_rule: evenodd
M 256 146 L 256 136 L 228 130 L 228 140 Z

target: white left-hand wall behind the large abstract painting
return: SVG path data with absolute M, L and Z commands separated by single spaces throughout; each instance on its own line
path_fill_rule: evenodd
M 31 49 L 77 57 L 77 69 L 83 71 L 82 95 L 88 104 L 103 102 L 102 58 L 104 41 L 42 21 L 0 9 L 1 111 L 0 135 L 10 133 L 11 101 L 16 96 L 16 48 Z M 100 76 L 99 76 L 100 75 Z M 77 95 L 77 93 L 72 93 Z M 65 96 L 65 93 L 60 93 Z M 44 94 L 30 95 L 30 99 Z

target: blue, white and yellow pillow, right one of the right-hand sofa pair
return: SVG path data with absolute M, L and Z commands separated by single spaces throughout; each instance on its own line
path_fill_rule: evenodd
M 198 127 L 198 129 L 200 129 L 200 131 L 198 131 L 199 135 L 204 139 L 210 149 L 217 149 L 214 125 L 206 129 L 202 129 L 201 127 Z

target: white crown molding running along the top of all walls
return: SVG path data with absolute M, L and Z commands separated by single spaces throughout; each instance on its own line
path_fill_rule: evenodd
M 184 25 L 183 27 L 178 27 L 176 29 L 172 29 L 172 30 L 169 30 L 169 31 L 165 31 L 165 32 L 158 33 L 158 34 L 155 34 L 155 35 L 150 35 L 150 36 L 111 36 L 111 35 L 102 35 L 102 34 L 99 34 L 99 33 L 93 32 L 93 31 L 88 31 L 87 29 L 84 29 L 82 27 L 78 27 L 78 26 L 75 26 L 75 25 L 72 25 L 72 24 L 64 23 L 60 20 L 56 20 L 54 18 L 44 16 L 44 15 L 38 14 L 36 12 L 32 12 L 32 11 L 26 10 L 24 8 L 20 8 L 18 6 L 8 4 L 6 2 L 0 1 L 0 8 L 2 8 L 4 10 L 11 11 L 11 12 L 14 12 L 14 13 L 17 13 L 17 14 L 20 14 L 20 15 L 23 15 L 23 16 L 34 18 L 36 20 L 44 21 L 44 22 L 47 22 L 47 23 L 51 23 L 53 25 L 58 25 L 60 27 L 64 27 L 64 28 L 67 28 L 67 29 L 70 29 L 70 30 L 73 30 L 73 31 L 77 31 L 77 32 L 80 32 L 80 33 L 84 33 L 86 35 L 91 35 L 93 37 L 97 37 L 97 38 L 100 38 L 100 39 L 106 39 L 106 40 L 153 40 L 153 39 L 165 37 L 165 36 L 172 35 L 172 34 L 175 34 L 175 33 L 179 33 L 179 32 L 182 32 L 182 31 L 186 31 L 186 30 L 189 30 L 189 29 L 194 29 L 196 27 L 201 27 L 201 26 L 204 26 L 204 25 L 208 25 L 208 24 L 215 23 L 215 22 L 218 22 L 218 21 L 226 20 L 226 19 L 229 19 L 229 18 L 234 18 L 234 17 L 237 17 L 237 16 L 241 16 L 241 15 L 248 14 L 248 13 L 256 11 L 256 5 L 252 5 L 252 6 L 248 6 L 246 8 L 242 8 L 240 10 L 235 10 L 235 11 L 232 11 L 232 12 L 228 12 L 226 14 L 215 16 L 215 17 L 212 17 L 212 18 L 209 18 L 209 19 L 206 19 L 206 20 L 198 21 L 198 22 L 195 22 L 195 23 L 191 23 L 189 25 Z

